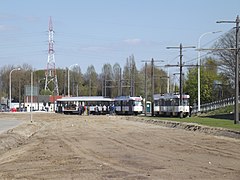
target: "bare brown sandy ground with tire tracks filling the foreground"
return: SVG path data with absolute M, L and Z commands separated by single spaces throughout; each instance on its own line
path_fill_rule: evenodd
M 1 119 L 24 123 L 0 134 L 0 179 L 240 179 L 239 139 L 120 116 Z

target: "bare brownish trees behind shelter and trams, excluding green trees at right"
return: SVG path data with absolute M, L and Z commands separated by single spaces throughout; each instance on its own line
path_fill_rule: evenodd
M 13 102 L 23 102 L 25 94 L 25 86 L 31 83 L 31 72 L 33 72 L 33 85 L 39 87 L 40 95 L 55 95 L 53 91 L 45 90 L 45 70 L 35 70 L 28 64 L 20 66 L 20 71 L 14 71 L 11 75 L 12 99 Z M 9 95 L 9 74 L 16 66 L 5 65 L 0 69 L 0 96 L 8 97 Z M 151 67 L 146 67 L 148 77 L 147 89 L 150 89 Z M 69 71 L 69 72 L 68 72 Z M 155 67 L 155 75 L 158 77 L 166 76 L 166 72 Z M 102 66 L 101 73 L 95 71 L 93 65 L 88 66 L 86 73 L 82 73 L 80 66 L 74 66 L 71 69 L 57 68 L 56 69 L 59 95 L 67 96 L 70 90 L 71 96 L 105 96 L 116 97 L 120 95 L 145 96 L 144 77 L 145 68 L 137 69 L 134 56 L 131 55 L 126 60 L 124 67 L 119 63 L 111 65 L 109 63 Z M 68 88 L 69 74 L 69 88 Z M 156 92 L 161 89 L 166 92 L 166 80 L 155 80 Z M 50 89 L 53 89 L 53 83 L 50 84 Z M 148 92 L 150 96 L 150 91 Z

